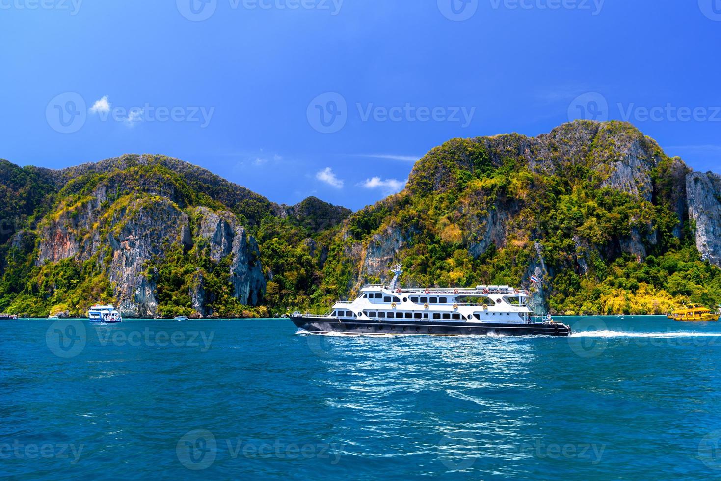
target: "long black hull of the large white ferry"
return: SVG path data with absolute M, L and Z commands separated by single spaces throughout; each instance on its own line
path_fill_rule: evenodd
M 469 324 L 468 322 L 370 322 L 350 319 L 319 319 L 291 316 L 293 324 L 308 332 L 324 334 L 425 334 L 425 335 L 547 335 L 567 337 L 571 328 L 562 324 Z

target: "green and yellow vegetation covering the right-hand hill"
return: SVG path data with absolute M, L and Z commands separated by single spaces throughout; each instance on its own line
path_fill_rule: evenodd
M 558 156 L 550 172 L 519 154 L 525 138 L 516 134 L 497 139 L 505 146 L 500 151 L 485 139 L 454 139 L 433 149 L 416 164 L 404 193 L 348 219 L 350 235 L 337 237 L 324 268 L 324 304 L 353 290 L 353 273 L 361 268 L 348 255 L 353 245 L 367 249 L 373 234 L 388 242 L 383 233 L 394 229 L 404 237 L 394 259 L 402 262 L 404 280 L 417 286 L 528 286 L 537 242 L 552 312 L 660 314 L 688 299 L 716 306 L 721 270 L 701 260 L 688 223 L 680 237 L 673 234 L 679 193 L 669 170 L 680 161 L 628 124 L 606 126 L 605 139 L 575 159 Z M 658 156 L 649 172 L 653 202 L 604 185 L 610 169 L 599 159 L 615 160 L 619 136 L 639 138 Z M 474 245 L 489 239 L 474 253 Z M 381 278 L 385 272 L 363 279 Z

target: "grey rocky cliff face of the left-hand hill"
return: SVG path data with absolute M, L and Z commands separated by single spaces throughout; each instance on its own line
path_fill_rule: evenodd
M 193 193 L 148 162 L 143 156 L 128 156 L 114 160 L 115 169 L 102 175 L 97 173 L 99 164 L 76 168 L 79 177 L 66 171 L 56 174 L 55 182 L 64 183 L 61 201 L 37 226 L 35 265 L 67 259 L 96 263 L 112 284 L 112 302 L 124 316 L 154 317 L 159 315 L 158 272 L 148 266 L 162 263 L 167 252 L 179 246 L 211 265 L 227 259 L 225 275 L 235 298 L 244 305 L 260 304 L 265 278 L 255 238 L 231 211 L 187 207 Z M 202 316 L 213 313 L 208 304 L 216 300 L 206 282 L 207 275 L 196 273 L 188 293 Z

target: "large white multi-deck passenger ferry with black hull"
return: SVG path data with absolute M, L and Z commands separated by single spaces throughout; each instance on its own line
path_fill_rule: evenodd
M 510 286 L 402 288 L 400 268 L 389 286 L 363 286 L 353 302 L 337 302 L 325 315 L 291 314 L 315 333 L 568 336 L 571 328 L 535 316 L 528 291 Z

